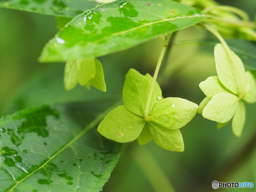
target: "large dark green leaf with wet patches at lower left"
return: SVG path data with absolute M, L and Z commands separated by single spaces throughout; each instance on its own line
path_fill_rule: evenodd
M 0 191 L 100 191 L 122 145 L 94 127 L 113 107 L 100 101 L 58 104 L 2 118 Z

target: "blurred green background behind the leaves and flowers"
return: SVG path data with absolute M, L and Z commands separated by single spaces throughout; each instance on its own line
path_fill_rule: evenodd
M 218 1 L 241 8 L 254 19 L 255 0 Z M 56 102 L 121 98 L 124 77 L 129 68 L 153 74 L 162 42 L 154 39 L 137 47 L 98 58 L 104 69 L 107 91 L 88 91 L 77 85 L 65 92 L 64 63 L 38 63 L 46 42 L 58 29 L 53 16 L 0 9 L 0 115 Z M 177 40 L 199 39 L 209 34 L 197 27 L 180 31 Z M 181 97 L 197 104 L 205 97 L 198 84 L 216 75 L 213 47 L 173 46 L 168 65 L 170 78 L 164 97 Z M 211 182 L 253 182 L 256 185 L 256 104 L 247 105 L 247 121 L 241 138 L 231 125 L 216 129 L 216 122 L 197 114 L 180 129 L 185 143 L 183 153 L 170 152 L 154 142 L 124 145 L 104 192 L 161 191 L 167 179 L 175 190 L 212 191 Z M 255 141 L 256 142 L 256 141 Z M 156 170 L 157 167 L 157 170 Z M 160 188 L 159 188 L 160 187 Z M 253 188 L 218 189 L 256 191 Z

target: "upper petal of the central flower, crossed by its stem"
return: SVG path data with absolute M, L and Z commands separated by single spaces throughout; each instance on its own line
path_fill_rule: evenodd
M 144 117 L 147 104 L 148 93 L 151 83 L 135 69 L 130 69 L 125 76 L 123 87 L 124 106 L 136 115 Z M 149 111 L 155 104 L 155 90 L 153 90 Z

